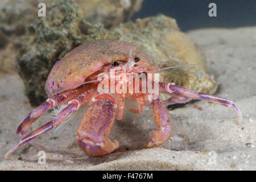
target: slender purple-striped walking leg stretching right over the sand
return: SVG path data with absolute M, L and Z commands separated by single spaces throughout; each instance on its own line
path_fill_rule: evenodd
M 210 94 L 201 93 L 201 92 L 195 92 L 193 90 L 189 90 L 186 88 L 183 88 L 181 86 L 177 86 L 174 83 L 165 83 L 165 82 L 159 82 L 159 91 L 163 94 L 172 94 L 176 93 L 179 96 L 183 98 L 191 98 L 194 100 L 204 100 L 208 102 L 215 102 L 217 104 L 224 105 L 226 107 L 232 107 L 232 109 L 236 112 L 238 118 L 239 118 L 239 124 L 241 123 L 243 117 L 240 109 L 236 106 L 236 104 L 233 103 L 233 101 L 228 100 L 226 98 L 221 98 L 217 96 L 212 96 Z

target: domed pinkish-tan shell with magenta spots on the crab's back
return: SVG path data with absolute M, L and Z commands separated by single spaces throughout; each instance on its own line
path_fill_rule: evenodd
M 131 52 L 131 55 L 130 55 Z M 154 69 L 151 58 L 138 46 L 123 40 L 102 39 L 85 42 L 57 61 L 46 81 L 49 97 L 60 90 L 75 89 L 79 84 L 111 61 L 128 61 L 139 57 L 138 65 Z

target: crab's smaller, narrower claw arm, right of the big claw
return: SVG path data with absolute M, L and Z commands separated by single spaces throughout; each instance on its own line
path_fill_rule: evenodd
M 168 139 L 171 133 L 171 119 L 168 111 L 160 100 L 152 100 L 153 113 L 158 130 L 152 135 L 150 142 L 147 143 L 146 148 L 160 147 Z

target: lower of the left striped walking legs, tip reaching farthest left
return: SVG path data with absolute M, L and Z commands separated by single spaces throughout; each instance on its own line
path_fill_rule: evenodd
M 61 110 L 60 113 L 57 114 L 52 121 L 46 123 L 42 127 L 39 127 L 38 129 L 32 131 L 32 133 L 21 138 L 19 142 L 6 153 L 5 158 L 7 159 L 10 154 L 12 154 L 20 146 L 27 144 L 32 139 L 39 137 L 40 135 L 53 129 L 53 127 L 59 126 L 64 121 L 64 119 L 66 119 L 71 113 L 73 113 L 73 111 L 79 109 L 80 105 L 85 104 L 86 100 L 89 100 L 89 98 L 92 97 L 92 92 L 94 92 L 94 90 L 89 90 L 88 92 L 85 92 L 80 96 L 76 97 L 75 100 L 69 101 L 68 106 Z

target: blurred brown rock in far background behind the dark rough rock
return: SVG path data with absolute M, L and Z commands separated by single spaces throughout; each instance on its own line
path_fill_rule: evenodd
M 27 26 L 33 23 L 38 17 L 38 4 L 46 4 L 48 7 L 67 0 L 19 0 L 0 2 L 0 65 L 1 71 L 14 72 L 15 55 L 20 47 L 20 41 L 26 34 Z M 70 0 L 69 4 L 77 4 L 76 11 L 81 17 L 92 23 L 102 23 L 110 28 L 114 25 L 128 20 L 136 11 L 141 8 L 143 0 Z M 50 12 L 49 12 L 50 13 Z M 50 13 L 51 14 L 51 13 Z M 7 44 L 10 44 L 7 46 Z M 10 47 L 12 49 L 10 49 Z M 6 52 L 12 52 L 6 57 Z

